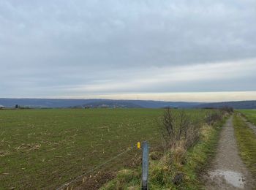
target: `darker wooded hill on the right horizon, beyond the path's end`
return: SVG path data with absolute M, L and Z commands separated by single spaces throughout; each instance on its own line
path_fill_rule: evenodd
M 214 102 L 214 103 L 203 103 L 199 104 L 196 107 L 203 108 L 203 107 L 233 107 L 234 109 L 256 109 L 256 101 L 238 101 L 238 102 Z

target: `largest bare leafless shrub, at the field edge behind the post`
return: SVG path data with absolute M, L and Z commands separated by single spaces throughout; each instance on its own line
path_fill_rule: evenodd
M 167 108 L 159 120 L 165 148 L 189 148 L 199 139 L 199 128 L 200 121 L 196 121 L 184 110 L 174 112 Z

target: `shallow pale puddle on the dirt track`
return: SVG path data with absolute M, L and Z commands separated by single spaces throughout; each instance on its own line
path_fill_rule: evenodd
M 237 188 L 244 188 L 244 178 L 239 172 L 233 172 L 229 170 L 215 170 L 214 172 L 208 172 L 211 178 L 222 177 L 225 178 L 227 183 Z

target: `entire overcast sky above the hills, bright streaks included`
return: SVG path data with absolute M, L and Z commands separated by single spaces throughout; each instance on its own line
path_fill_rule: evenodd
M 255 20 L 255 0 L 0 0 L 0 97 L 256 99 Z

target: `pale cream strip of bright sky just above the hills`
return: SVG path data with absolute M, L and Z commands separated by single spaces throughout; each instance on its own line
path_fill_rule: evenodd
M 162 102 L 238 102 L 255 101 L 256 91 L 206 91 L 206 92 L 165 92 L 165 93 L 120 93 L 86 94 L 64 96 L 20 96 L 0 97 L 1 99 L 112 99 L 145 100 Z

